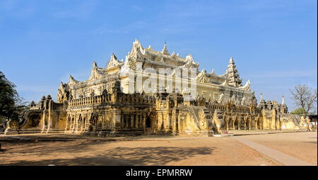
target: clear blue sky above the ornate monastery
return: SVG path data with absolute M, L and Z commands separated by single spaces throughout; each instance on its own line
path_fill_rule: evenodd
M 285 103 L 288 89 L 317 89 L 317 1 L 0 1 L 0 71 L 25 100 L 57 99 L 61 81 L 86 80 L 141 45 L 223 74 L 233 57 L 257 99 Z

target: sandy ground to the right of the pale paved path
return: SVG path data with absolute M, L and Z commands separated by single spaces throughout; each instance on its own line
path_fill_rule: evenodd
M 245 135 L 244 137 L 317 166 L 317 132 Z

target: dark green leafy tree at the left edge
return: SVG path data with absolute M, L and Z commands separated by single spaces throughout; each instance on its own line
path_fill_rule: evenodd
M 4 73 L 0 71 L 0 120 L 17 120 L 23 106 L 16 85 L 6 79 Z

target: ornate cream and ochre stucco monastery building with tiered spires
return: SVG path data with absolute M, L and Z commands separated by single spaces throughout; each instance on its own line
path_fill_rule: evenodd
M 155 73 L 145 76 L 145 69 Z M 160 69 L 165 72 L 158 73 Z M 186 74 L 182 84 L 177 81 L 179 69 Z M 151 76 L 155 79 L 151 90 L 157 92 L 146 91 L 144 84 Z M 191 89 L 195 94 L 189 96 Z M 125 60 L 112 54 L 105 68 L 93 62 L 86 81 L 70 75 L 69 82 L 59 86 L 57 102 L 43 96 L 39 103 L 30 103 L 30 110 L 19 122 L 11 120 L 6 132 L 210 136 L 231 129 L 311 130 L 307 121 L 290 115 L 284 102 L 261 98 L 257 104 L 250 81 L 242 84 L 232 57 L 225 74 L 199 72 L 192 55 L 170 54 L 166 44 L 155 51 L 136 40 Z

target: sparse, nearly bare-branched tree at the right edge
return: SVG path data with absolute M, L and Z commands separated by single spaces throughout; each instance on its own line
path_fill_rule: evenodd
M 317 90 L 311 89 L 306 84 L 298 84 L 293 90 L 290 89 L 296 106 L 302 108 L 303 114 L 307 116 L 310 111 L 316 111 Z

